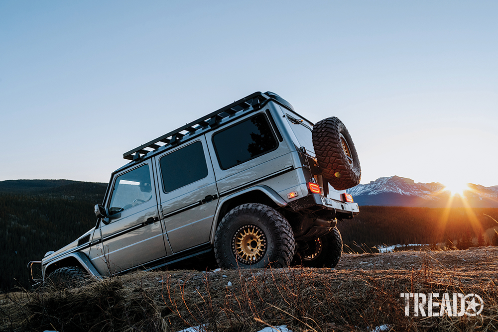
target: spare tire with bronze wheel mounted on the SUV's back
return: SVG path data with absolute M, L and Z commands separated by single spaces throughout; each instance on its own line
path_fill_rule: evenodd
M 322 175 L 336 190 L 360 183 L 362 170 L 355 144 L 344 123 L 332 116 L 313 125 L 313 147 Z

